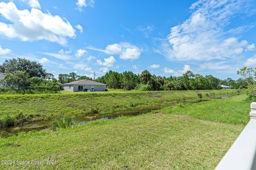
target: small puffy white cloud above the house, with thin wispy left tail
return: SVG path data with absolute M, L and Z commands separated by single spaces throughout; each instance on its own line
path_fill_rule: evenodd
M 87 47 L 87 49 L 97 50 L 109 55 L 119 55 L 119 57 L 123 60 L 137 60 L 142 51 L 142 49 L 130 43 L 115 43 L 108 45 L 105 49 L 95 47 Z

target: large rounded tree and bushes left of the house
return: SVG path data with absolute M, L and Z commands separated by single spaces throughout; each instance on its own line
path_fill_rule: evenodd
M 57 93 L 61 84 L 54 79 L 53 74 L 46 73 L 43 66 L 25 58 L 5 60 L 0 65 L 4 79 L 0 83 L 0 94 L 43 94 Z

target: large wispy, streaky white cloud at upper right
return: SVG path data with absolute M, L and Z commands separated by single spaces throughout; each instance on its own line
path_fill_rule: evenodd
M 168 43 L 157 50 L 169 60 L 210 61 L 241 55 L 254 48 L 246 40 L 230 36 L 226 27 L 236 14 L 253 9 L 246 1 L 198 1 L 190 9 L 193 11 L 189 19 L 172 27 Z

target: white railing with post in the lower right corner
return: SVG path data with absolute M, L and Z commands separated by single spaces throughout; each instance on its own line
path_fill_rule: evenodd
M 256 169 L 256 102 L 251 103 L 250 117 L 251 120 L 241 134 L 239 134 L 215 170 Z

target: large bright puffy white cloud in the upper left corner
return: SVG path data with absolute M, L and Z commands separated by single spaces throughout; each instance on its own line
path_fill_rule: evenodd
M 0 14 L 11 23 L 0 22 L 0 35 L 22 41 L 47 40 L 61 45 L 66 37 L 75 38 L 72 25 L 58 15 L 43 13 L 37 8 L 18 10 L 13 2 L 0 3 Z

